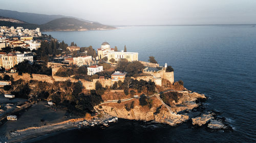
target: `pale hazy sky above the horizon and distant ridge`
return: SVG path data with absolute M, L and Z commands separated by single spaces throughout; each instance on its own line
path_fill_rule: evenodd
M 116 26 L 256 23 L 256 0 L 0 0 L 0 9 L 61 14 Z

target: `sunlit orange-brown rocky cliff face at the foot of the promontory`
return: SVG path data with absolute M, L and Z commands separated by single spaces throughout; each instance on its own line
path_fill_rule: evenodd
M 117 116 L 119 118 L 126 118 L 129 120 L 141 120 L 141 121 L 156 121 L 158 123 L 164 123 L 171 126 L 175 126 L 182 122 L 189 120 L 188 114 L 178 114 L 177 111 L 193 109 L 198 107 L 198 104 L 187 104 L 185 107 L 179 107 L 178 105 L 195 102 L 197 99 L 205 98 L 204 95 L 198 93 L 182 93 L 183 97 L 179 99 L 179 103 L 174 104 L 171 109 L 175 108 L 175 112 L 168 110 L 170 107 L 166 107 L 161 102 L 160 98 L 156 96 L 150 98 L 152 100 L 152 107 L 139 105 L 139 99 L 133 99 L 130 101 L 124 101 L 121 103 L 103 103 L 96 106 L 95 108 L 101 113 L 107 113 L 112 116 Z M 134 102 L 134 107 L 130 108 Z

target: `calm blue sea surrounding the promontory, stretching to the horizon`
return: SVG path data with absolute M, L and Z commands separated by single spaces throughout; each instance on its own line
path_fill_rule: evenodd
M 30 142 L 256 142 L 256 27 L 152 26 L 45 34 L 94 49 L 103 41 L 119 50 L 126 45 L 143 61 L 155 56 L 160 65 L 174 67 L 175 80 L 206 94 L 206 110 L 220 111 L 234 131 L 120 120 L 105 129 L 62 131 Z

